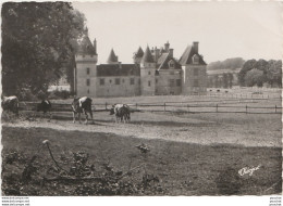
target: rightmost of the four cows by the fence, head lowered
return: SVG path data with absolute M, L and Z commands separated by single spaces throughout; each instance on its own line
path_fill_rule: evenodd
M 124 123 L 131 120 L 131 111 L 126 104 L 114 104 L 110 110 L 110 115 L 115 114 L 115 123 L 122 121 Z

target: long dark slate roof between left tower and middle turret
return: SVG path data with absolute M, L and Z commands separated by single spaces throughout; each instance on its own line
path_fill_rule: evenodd
M 138 64 L 100 64 L 97 66 L 97 76 L 140 76 L 140 67 Z

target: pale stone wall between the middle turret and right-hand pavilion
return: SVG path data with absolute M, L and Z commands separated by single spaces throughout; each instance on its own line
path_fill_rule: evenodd
M 169 95 L 181 94 L 182 92 L 182 70 L 160 69 L 156 76 L 156 94 Z

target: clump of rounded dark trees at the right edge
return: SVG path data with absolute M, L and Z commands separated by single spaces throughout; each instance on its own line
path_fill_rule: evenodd
M 238 73 L 238 83 L 242 87 L 282 87 L 282 61 L 248 60 Z

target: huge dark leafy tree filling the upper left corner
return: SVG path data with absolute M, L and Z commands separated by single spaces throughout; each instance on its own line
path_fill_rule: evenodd
M 74 56 L 84 15 L 67 2 L 5 2 L 1 14 L 3 93 L 46 92 Z

